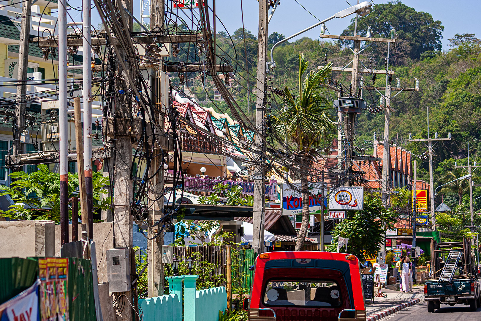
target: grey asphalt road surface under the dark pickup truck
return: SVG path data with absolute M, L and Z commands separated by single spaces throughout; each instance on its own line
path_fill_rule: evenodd
M 426 302 L 419 302 L 414 306 L 404 308 L 382 321 L 480 321 L 481 308 L 477 311 L 469 310 L 469 306 L 447 306 L 442 304 L 440 309 L 428 313 Z

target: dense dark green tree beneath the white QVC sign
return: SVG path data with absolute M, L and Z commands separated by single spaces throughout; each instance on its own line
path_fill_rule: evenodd
M 392 229 L 397 214 L 386 209 L 379 198 L 365 198 L 364 210 L 355 211 L 354 217 L 344 219 L 336 225 L 332 233 L 330 252 L 337 251 L 338 238 L 349 238 L 346 253 L 354 254 L 358 258 L 377 257 L 379 244 L 383 241 L 382 234 L 386 229 Z

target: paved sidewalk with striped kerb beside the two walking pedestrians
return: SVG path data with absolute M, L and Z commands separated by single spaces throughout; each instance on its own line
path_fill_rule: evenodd
M 374 303 L 371 303 L 371 300 L 364 300 L 367 316 L 392 308 L 412 299 L 419 298 L 421 302 L 424 301 L 424 285 L 414 286 L 412 293 L 403 293 L 389 289 L 382 289 L 382 293 L 388 296 L 374 297 Z M 376 295 L 376 292 L 374 292 L 374 295 Z

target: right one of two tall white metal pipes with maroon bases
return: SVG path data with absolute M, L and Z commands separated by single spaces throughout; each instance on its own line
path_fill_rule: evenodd
M 89 217 L 89 239 L 93 239 L 93 187 L 92 187 L 92 53 L 90 28 L 92 9 L 90 1 L 83 0 L 83 88 L 84 88 L 84 174 Z

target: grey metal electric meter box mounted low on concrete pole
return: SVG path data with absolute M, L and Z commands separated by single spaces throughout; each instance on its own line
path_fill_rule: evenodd
M 107 280 L 110 292 L 130 291 L 130 259 L 128 248 L 107 250 Z

